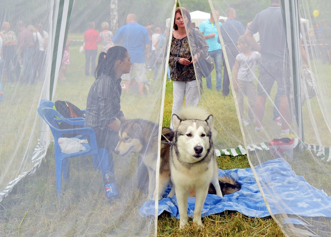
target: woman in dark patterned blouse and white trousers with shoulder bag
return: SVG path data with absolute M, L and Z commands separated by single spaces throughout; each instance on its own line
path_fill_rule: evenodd
M 202 33 L 197 28 L 191 27 L 190 13 L 185 8 L 176 8 L 173 28 L 169 57 L 170 76 L 173 80 L 171 114 L 177 113 L 183 106 L 184 97 L 186 106 L 198 106 L 200 100 L 198 83 L 201 89 L 202 75 L 197 72 L 197 78 L 195 77 L 193 61 L 196 63 L 199 57 L 206 58 L 209 48 Z M 172 123 L 170 128 L 173 129 Z

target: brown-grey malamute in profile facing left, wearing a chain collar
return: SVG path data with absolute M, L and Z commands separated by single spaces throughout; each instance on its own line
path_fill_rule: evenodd
M 119 141 L 115 153 L 125 156 L 137 153 L 142 157 L 148 169 L 149 184 L 148 196 L 156 200 L 162 195 L 170 184 L 169 150 L 174 133 L 169 128 L 162 128 L 159 194 L 155 189 L 156 162 L 158 155 L 159 125 L 144 119 L 128 119 L 121 123 L 118 131 Z M 171 184 L 170 184 L 171 185 Z

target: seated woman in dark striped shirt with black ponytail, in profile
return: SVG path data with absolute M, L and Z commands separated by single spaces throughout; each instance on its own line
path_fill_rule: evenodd
M 131 64 L 124 47 L 115 46 L 107 53 L 101 52 L 94 75 L 96 80 L 87 97 L 85 127 L 94 130 L 98 147 L 108 150 L 110 164 L 118 143 L 120 122 L 125 120 L 120 110 L 121 76 L 130 72 Z

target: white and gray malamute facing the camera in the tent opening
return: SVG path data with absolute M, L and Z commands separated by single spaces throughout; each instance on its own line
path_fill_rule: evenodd
M 179 227 L 188 223 L 187 198 L 192 189 L 195 191 L 193 222 L 204 227 L 201 210 L 209 186 L 222 197 L 222 191 L 223 194 L 233 193 L 240 190 L 241 185 L 231 177 L 218 178 L 213 115 L 202 107 L 186 107 L 173 114 L 171 119 L 175 136 L 170 146 L 169 162 L 172 189 L 175 188 L 178 202 Z

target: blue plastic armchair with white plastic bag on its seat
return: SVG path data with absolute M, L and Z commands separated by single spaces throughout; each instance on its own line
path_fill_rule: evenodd
M 84 120 L 69 120 L 64 118 L 58 111 L 51 107 L 39 106 L 38 114 L 45 120 L 50 127 L 54 137 L 54 154 L 55 154 L 55 174 L 56 174 L 56 190 L 58 195 L 61 194 L 61 176 L 63 173 L 63 179 L 70 177 L 69 173 L 69 160 L 70 158 L 92 155 L 95 169 L 100 169 L 102 177 L 106 170 L 110 170 L 114 174 L 113 161 L 109 166 L 108 151 L 105 148 L 98 148 L 94 130 L 91 128 L 74 128 L 74 129 L 60 129 L 59 122 L 68 123 L 70 125 L 82 125 Z M 71 154 L 65 154 L 61 152 L 58 139 L 65 137 L 68 134 L 79 134 L 75 138 L 87 139 L 89 143 L 82 143 L 86 148 L 85 151 L 79 151 Z M 110 168 L 110 169 L 109 169 Z

